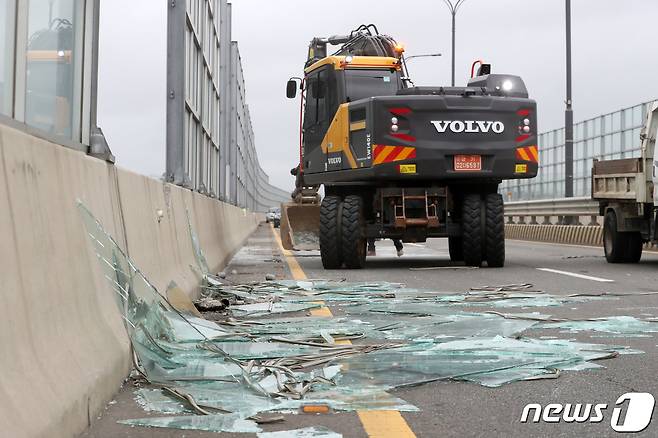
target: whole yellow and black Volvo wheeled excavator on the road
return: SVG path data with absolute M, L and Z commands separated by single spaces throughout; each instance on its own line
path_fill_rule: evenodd
M 284 246 L 308 249 L 315 234 L 325 269 L 358 269 L 369 240 L 443 237 L 453 261 L 502 267 L 498 186 L 537 175 L 537 105 L 519 76 L 471 70 L 463 87 L 416 86 L 403 47 L 374 25 L 314 38 L 287 84 L 300 147 Z

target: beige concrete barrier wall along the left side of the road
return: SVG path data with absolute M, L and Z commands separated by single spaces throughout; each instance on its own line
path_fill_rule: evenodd
M 76 209 L 81 199 L 145 275 L 196 294 L 186 210 L 220 269 L 259 215 L 0 125 L 0 431 L 70 437 L 126 377 L 129 345 Z

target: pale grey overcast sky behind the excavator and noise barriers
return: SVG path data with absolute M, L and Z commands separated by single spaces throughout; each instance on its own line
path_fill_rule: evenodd
M 99 125 L 117 164 L 160 176 L 165 168 L 166 1 L 101 2 Z M 658 98 L 656 0 L 574 0 L 576 121 Z M 285 83 L 302 73 L 313 36 L 361 23 L 402 42 L 417 85 L 450 84 L 450 14 L 441 0 L 234 0 L 247 102 L 260 163 L 286 190 L 298 159 L 299 102 Z M 564 1 L 467 0 L 457 16 L 457 85 L 482 58 L 523 77 L 537 100 L 540 131 L 563 125 Z

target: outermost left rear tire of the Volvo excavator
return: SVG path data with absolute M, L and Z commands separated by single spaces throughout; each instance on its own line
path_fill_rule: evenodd
M 342 202 L 338 196 L 325 196 L 320 205 L 320 258 L 325 269 L 343 264 L 340 251 Z

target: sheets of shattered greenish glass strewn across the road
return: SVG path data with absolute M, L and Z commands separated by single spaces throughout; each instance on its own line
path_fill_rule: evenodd
M 658 323 L 630 317 L 567 321 L 539 313 L 469 310 L 611 299 L 551 296 L 532 285 L 448 295 L 384 282 L 229 284 L 208 272 L 190 227 L 204 294 L 230 303 L 225 319 L 209 321 L 172 306 L 92 214 L 82 204 L 79 208 L 115 292 L 136 367 L 151 384 L 138 390 L 138 400 L 145 410 L 170 415 L 125 424 L 258 433 L 260 424 L 280 421 L 280 413 L 295 413 L 309 404 L 333 411 L 416 411 L 389 391 L 438 380 L 496 387 L 557 377 L 560 370 L 599 368 L 592 361 L 636 352 L 522 337 L 532 328 L 629 336 L 658 332 Z M 307 315 L 324 303 L 340 309 L 340 314 Z M 281 436 L 340 436 L 321 428 L 287 432 Z

